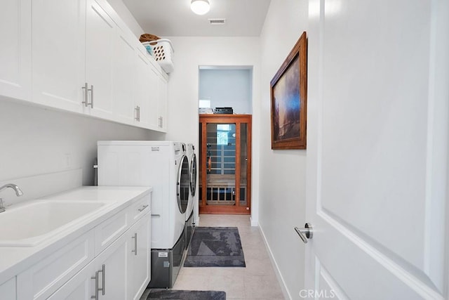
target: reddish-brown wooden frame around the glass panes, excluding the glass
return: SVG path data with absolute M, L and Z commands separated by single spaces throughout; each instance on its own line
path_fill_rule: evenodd
M 202 166 L 206 166 L 207 159 L 207 124 L 236 124 L 236 202 L 234 205 L 207 205 L 207 174 L 206 169 Z M 200 214 L 251 214 L 251 152 L 252 152 L 252 115 L 199 115 L 199 124 L 201 124 L 201 162 L 199 171 L 201 172 L 201 201 L 199 202 Z M 247 165 L 246 165 L 246 207 L 240 206 L 240 157 L 241 148 L 240 141 L 237 143 L 237 138 L 240 138 L 241 124 L 247 124 L 248 128 L 248 149 L 247 149 Z

